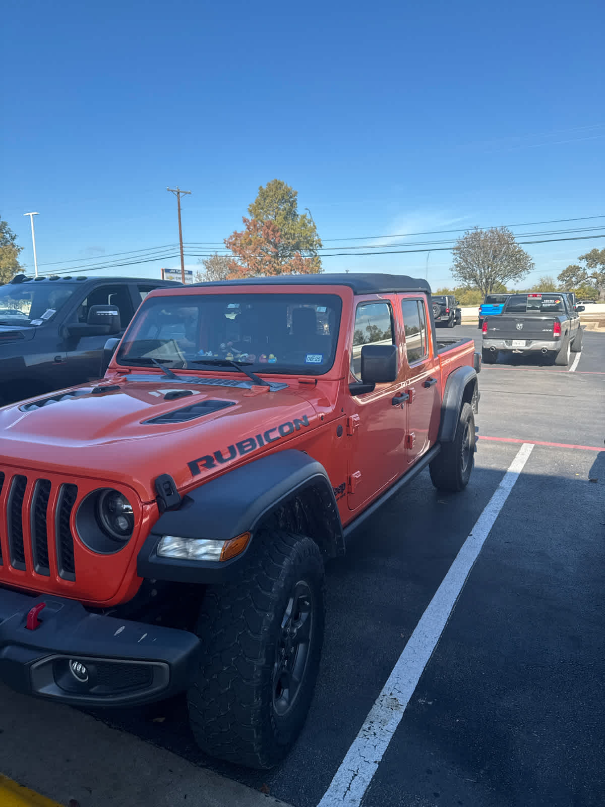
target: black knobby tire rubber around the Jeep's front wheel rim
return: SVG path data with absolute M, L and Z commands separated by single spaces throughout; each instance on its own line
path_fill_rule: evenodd
M 307 684 L 294 705 L 297 717 L 292 730 L 277 742 L 268 707 L 277 639 L 270 623 L 281 609 L 280 600 L 288 596 L 284 587 L 293 564 L 311 568 L 320 580 L 315 625 L 319 649 L 316 658 L 307 661 Z M 268 768 L 289 751 L 315 688 L 323 638 L 323 588 L 323 561 L 315 541 L 273 529 L 253 538 L 236 579 L 207 588 L 196 629 L 202 639 L 202 660 L 188 692 L 190 726 L 204 753 L 246 767 Z

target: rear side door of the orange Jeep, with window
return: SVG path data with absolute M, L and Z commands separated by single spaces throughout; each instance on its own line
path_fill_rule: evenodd
M 407 402 L 407 464 L 414 462 L 436 440 L 439 424 L 439 374 L 435 373 L 435 358 L 428 327 L 428 309 L 422 296 L 400 296 L 399 314 L 403 331 L 405 388 Z

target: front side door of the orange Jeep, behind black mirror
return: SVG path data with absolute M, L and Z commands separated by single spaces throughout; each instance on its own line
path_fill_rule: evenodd
M 396 295 L 357 298 L 355 324 L 350 337 L 350 380 L 361 381 L 364 345 L 397 345 L 394 306 Z M 388 487 L 405 470 L 404 440 L 407 405 L 394 402 L 405 382 L 401 345 L 398 378 L 377 384 L 373 392 L 352 395 L 353 415 L 348 417 L 348 508 L 357 510 Z

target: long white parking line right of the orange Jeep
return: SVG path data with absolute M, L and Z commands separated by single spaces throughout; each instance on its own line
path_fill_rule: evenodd
M 524 469 L 533 445 L 524 443 L 502 482 L 461 546 L 435 596 L 420 617 L 364 725 L 348 749 L 319 807 L 359 807 L 410 698 L 427 666 L 470 570 L 508 495 Z

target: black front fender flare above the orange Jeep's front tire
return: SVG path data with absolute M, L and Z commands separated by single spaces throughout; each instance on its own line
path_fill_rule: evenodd
M 284 449 L 227 471 L 187 493 L 178 508 L 166 510 L 153 525 L 137 558 L 140 577 L 186 583 L 228 579 L 243 562 L 254 530 L 288 500 L 304 493 L 314 499 L 314 528 L 325 558 L 344 554 L 344 537 L 336 497 L 320 462 L 303 451 Z M 252 533 L 247 549 L 232 560 L 190 561 L 161 558 L 156 547 L 163 535 L 227 541 Z

